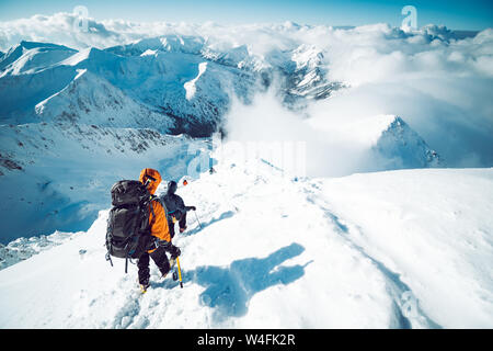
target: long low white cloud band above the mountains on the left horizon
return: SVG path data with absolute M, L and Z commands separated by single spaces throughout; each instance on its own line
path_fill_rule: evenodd
M 85 20 L 87 26 L 82 31 L 79 15 L 66 12 L 0 22 L 0 50 L 5 52 L 21 41 L 49 42 L 77 49 L 89 46 L 106 48 L 168 34 L 210 37 L 218 48 L 250 44 L 259 53 L 267 52 L 273 46 L 287 47 L 283 42 L 291 42 L 287 36 L 272 41 L 280 32 L 276 27 L 263 25 L 222 26 L 213 22 L 193 24 L 114 19 L 95 21 L 91 18 Z M 284 32 L 289 30 L 285 29 Z M 255 41 L 255 36 L 261 41 Z

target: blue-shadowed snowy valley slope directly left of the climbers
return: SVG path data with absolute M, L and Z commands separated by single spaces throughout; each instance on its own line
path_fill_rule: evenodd
M 55 230 L 87 230 L 108 206 L 105 196 L 115 181 L 168 163 L 174 167 L 163 174 L 167 179 L 188 174 L 195 149 L 208 145 L 156 129 L 61 122 L 1 125 L 0 138 L 3 244 Z

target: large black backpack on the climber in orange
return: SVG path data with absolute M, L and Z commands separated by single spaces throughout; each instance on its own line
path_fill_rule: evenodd
M 125 273 L 129 259 L 138 259 L 150 244 L 149 211 L 153 213 L 152 196 L 137 180 L 121 180 L 111 190 L 112 210 L 107 218 L 106 260 L 111 256 L 125 259 Z

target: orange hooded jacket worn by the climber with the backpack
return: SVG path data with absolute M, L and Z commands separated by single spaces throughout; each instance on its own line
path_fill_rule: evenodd
M 161 183 L 161 174 L 156 169 L 151 168 L 145 168 L 140 172 L 139 181 L 145 184 L 146 181 L 149 179 L 149 177 L 156 179 L 151 180 L 149 185 L 147 185 L 147 190 L 151 195 L 154 194 L 156 190 L 159 186 L 159 183 Z M 159 201 L 152 202 L 152 211 L 149 208 L 149 224 L 151 225 L 151 235 L 157 237 L 160 240 L 165 240 L 171 242 L 171 235 L 170 235 L 170 228 L 168 227 L 168 219 L 167 219 L 167 213 L 164 208 L 162 207 L 161 203 Z M 154 218 L 156 217 L 156 218 Z

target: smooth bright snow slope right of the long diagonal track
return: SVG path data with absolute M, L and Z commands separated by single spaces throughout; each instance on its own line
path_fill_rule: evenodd
M 491 168 L 434 169 L 355 174 L 313 186 L 341 233 L 399 274 L 395 283 L 412 290 L 429 318 L 444 327 L 491 328 L 492 181 Z

